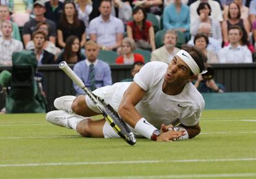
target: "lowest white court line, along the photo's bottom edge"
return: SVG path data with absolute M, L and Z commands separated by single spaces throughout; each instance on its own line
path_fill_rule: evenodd
M 149 175 L 149 176 L 120 176 L 120 177 L 83 177 L 83 178 L 41 178 L 41 179 L 155 179 L 155 178 L 226 178 L 226 177 L 255 177 L 256 173 L 213 173 L 188 175 Z

